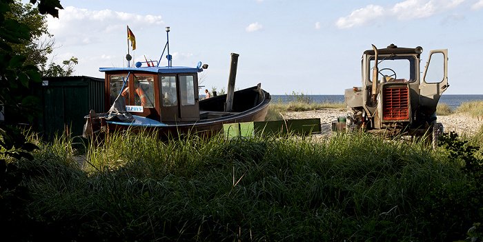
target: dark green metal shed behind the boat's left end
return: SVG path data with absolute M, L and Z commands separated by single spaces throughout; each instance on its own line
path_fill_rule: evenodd
M 41 100 L 42 117 L 32 125 L 44 137 L 54 137 L 68 130 L 72 137 L 81 136 L 84 116 L 90 110 L 104 111 L 104 79 L 95 77 L 43 77 L 34 95 Z

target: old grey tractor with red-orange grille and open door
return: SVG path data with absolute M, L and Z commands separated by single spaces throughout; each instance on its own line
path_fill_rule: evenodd
M 448 85 L 448 50 L 431 50 L 420 69 L 420 46 L 364 51 L 362 87 L 346 89 L 346 127 L 384 136 L 428 134 L 433 145 L 443 131 L 436 106 Z

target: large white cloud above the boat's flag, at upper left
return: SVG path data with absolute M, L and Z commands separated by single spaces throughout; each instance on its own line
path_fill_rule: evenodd
M 58 42 L 65 44 L 86 45 L 96 43 L 109 34 L 126 31 L 132 32 L 150 26 L 164 24 L 161 16 L 139 15 L 112 10 L 87 10 L 68 6 L 59 10 L 59 19 L 48 17 L 49 32 Z

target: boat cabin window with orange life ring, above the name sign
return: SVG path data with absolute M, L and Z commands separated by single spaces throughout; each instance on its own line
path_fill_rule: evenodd
M 134 105 L 153 108 L 155 106 L 155 88 L 152 76 L 135 75 L 134 86 Z

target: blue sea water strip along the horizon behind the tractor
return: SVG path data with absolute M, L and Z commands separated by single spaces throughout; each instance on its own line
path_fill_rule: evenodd
M 282 103 L 287 103 L 289 100 L 289 95 L 272 95 L 272 100 L 275 101 L 279 99 Z M 304 97 L 310 98 L 315 102 L 333 102 L 333 103 L 343 103 L 344 95 L 305 95 Z M 452 110 L 456 110 L 461 103 L 466 103 L 470 101 L 483 101 L 483 94 L 442 94 L 440 98 L 440 103 L 446 103 Z

